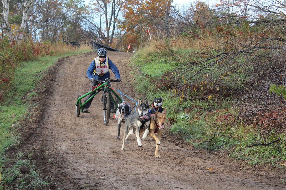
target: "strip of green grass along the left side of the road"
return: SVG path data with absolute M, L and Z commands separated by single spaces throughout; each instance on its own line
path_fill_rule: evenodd
M 29 119 L 29 108 L 37 106 L 31 100 L 38 96 L 33 90 L 39 84 L 39 80 L 45 73 L 44 71 L 61 57 L 89 51 L 90 50 L 78 50 L 61 56 L 41 57 L 37 61 L 21 62 L 20 66 L 16 69 L 12 81 L 13 86 L 11 90 L 4 95 L 4 101 L 1 102 L 0 105 L 0 172 L 2 173 L 2 184 L 7 185 L 13 183 L 18 189 L 34 189 L 48 185 L 48 183 L 37 174 L 30 156 L 29 159 L 25 161 L 19 159 L 13 164 L 13 167 L 6 168 L 5 163 L 10 160 L 4 157 L 4 153 L 6 149 L 19 144 L 21 140 L 20 134 L 18 133 L 18 131 L 22 130 L 21 121 Z M 30 155 L 30 153 L 18 154 L 19 158 L 23 154 Z M 29 175 L 19 178 L 19 167 L 23 165 L 29 168 Z M 1 185 L 0 190 L 3 188 Z M 5 186 L 4 189 L 6 188 L 7 186 Z

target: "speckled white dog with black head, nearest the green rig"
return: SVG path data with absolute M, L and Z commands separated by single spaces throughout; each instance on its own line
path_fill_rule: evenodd
M 116 139 L 120 139 L 120 128 L 121 128 L 121 124 L 122 122 L 125 123 L 125 119 L 124 117 L 128 116 L 132 111 L 131 106 L 126 103 L 126 102 L 122 102 L 117 110 L 116 110 L 116 114 L 115 114 L 115 119 L 118 120 L 118 130 L 117 130 L 117 137 Z

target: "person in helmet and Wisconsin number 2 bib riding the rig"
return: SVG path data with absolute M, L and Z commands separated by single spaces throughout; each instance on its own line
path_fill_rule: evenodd
M 86 75 L 88 76 L 90 80 L 90 88 L 89 91 L 92 90 L 92 86 L 98 86 L 100 82 L 96 80 L 105 80 L 106 78 L 110 77 L 109 69 L 112 70 L 112 72 L 115 75 L 115 78 L 117 79 L 117 82 L 120 82 L 120 74 L 118 68 L 115 66 L 115 64 L 106 57 L 106 50 L 103 48 L 100 48 L 97 50 L 98 57 L 94 58 L 90 66 L 88 67 L 88 70 L 86 71 Z M 108 82 L 110 85 L 110 82 Z M 111 86 L 111 85 L 110 85 Z M 96 91 L 94 91 L 95 93 Z M 84 99 L 84 102 L 88 100 L 94 93 L 89 94 Z M 82 112 L 88 112 L 88 108 L 90 107 L 90 104 L 92 102 L 93 98 L 88 101 L 82 109 Z M 114 103 L 112 102 L 110 98 L 110 113 L 115 113 L 114 109 Z

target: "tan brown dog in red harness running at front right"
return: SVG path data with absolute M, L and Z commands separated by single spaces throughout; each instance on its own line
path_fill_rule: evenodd
M 156 151 L 155 151 L 155 157 L 160 158 L 161 156 L 158 154 L 159 145 L 161 144 L 161 136 L 163 133 L 164 124 L 166 120 L 166 113 L 167 110 L 164 110 L 163 113 L 155 112 L 154 114 L 151 114 L 151 122 L 150 127 L 145 130 L 142 140 L 144 141 L 146 137 L 150 134 L 151 137 L 153 137 L 156 140 Z M 157 136 L 155 135 L 157 133 Z

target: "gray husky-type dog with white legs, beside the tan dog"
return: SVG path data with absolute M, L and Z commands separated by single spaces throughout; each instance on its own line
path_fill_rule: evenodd
M 140 135 L 145 128 L 150 126 L 150 114 L 149 114 L 149 101 L 145 99 L 143 103 L 141 99 L 138 100 L 138 112 L 136 114 L 130 114 L 125 119 L 125 130 L 122 139 L 121 150 L 125 150 L 125 141 L 128 140 L 130 134 L 136 133 L 138 147 L 142 146 Z M 127 134 L 128 133 L 128 134 Z

